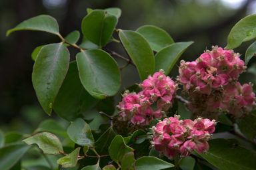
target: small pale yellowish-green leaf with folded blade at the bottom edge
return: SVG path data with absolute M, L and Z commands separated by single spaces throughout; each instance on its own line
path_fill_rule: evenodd
M 66 155 L 65 157 L 61 157 L 57 160 L 57 164 L 62 165 L 62 167 L 75 167 L 77 165 L 77 158 L 80 151 L 80 147 L 77 147 L 74 151 Z

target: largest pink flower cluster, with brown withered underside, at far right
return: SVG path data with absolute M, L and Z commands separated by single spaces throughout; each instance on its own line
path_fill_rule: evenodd
M 241 86 L 239 74 L 247 66 L 233 50 L 212 46 L 197 60 L 181 60 L 177 82 L 183 85 L 183 92 L 189 94 L 187 108 L 192 115 L 217 119 L 221 112 L 239 118 L 248 114 L 255 106 L 253 84 Z

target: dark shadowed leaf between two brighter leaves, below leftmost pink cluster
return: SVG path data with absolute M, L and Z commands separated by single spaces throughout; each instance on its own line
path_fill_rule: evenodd
M 99 139 L 95 142 L 95 150 L 99 155 L 108 155 L 109 154 L 109 146 L 111 144 L 111 141 L 115 137 L 115 132 L 110 127 L 99 137 Z

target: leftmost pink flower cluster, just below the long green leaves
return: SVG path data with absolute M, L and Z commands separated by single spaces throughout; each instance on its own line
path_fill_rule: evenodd
M 175 86 L 173 80 L 163 73 L 161 69 L 153 76 L 148 76 L 148 79 L 139 84 L 143 90 L 138 94 L 125 91 L 123 100 L 117 105 L 121 115 L 119 119 L 145 126 L 154 118 L 166 116 L 166 111 L 173 106 L 177 85 Z M 151 104 L 156 101 L 157 110 L 153 112 Z

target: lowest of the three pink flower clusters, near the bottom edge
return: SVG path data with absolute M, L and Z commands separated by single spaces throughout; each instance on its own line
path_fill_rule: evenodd
M 165 118 L 156 127 L 152 127 L 151 147 L 159 151 L 159 157 L 165 155 L 170 160 L 177 154 L 180 157 L 188 156 L 194 149 L 206 153 L 209 150 L 207 141 L 211 139 L 217 124 L 215 120 L 197 118 L 192 121 L 179 118 L 179 115 Z

